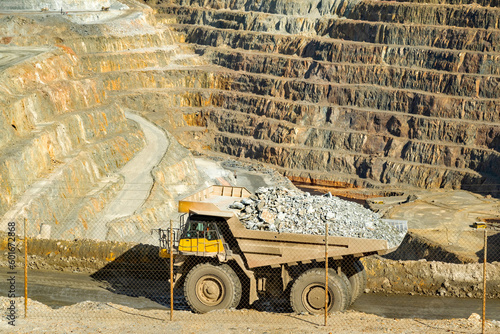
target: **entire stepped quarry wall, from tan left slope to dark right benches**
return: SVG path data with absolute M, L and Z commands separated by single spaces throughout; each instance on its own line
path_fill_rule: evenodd
M 92 13 L 102 1 L 66 1 L 89 11 L 70 15 L 14 14 L 2 3 L 2 52 L 22 48 L 2 72 L 2 214 L 76 218 L 58 236 L 85 236 L 144 145 L 124 111 L 195 152 L 298 180 L 497 194 L 496 2 L 120 3 L 130 9 L 102 17 Z M 176 183 L 199 184 L 194 167 L 183 169 L 194 176 L 177 173 Z M 21 201 L 48 175 L 64 186 Z M 92 186 L 77 189 L 83 180 Z M 166 182 L 154 201 L 175 202 Z M 175 211 L 152 203 L 144 215 L 155 220 Z

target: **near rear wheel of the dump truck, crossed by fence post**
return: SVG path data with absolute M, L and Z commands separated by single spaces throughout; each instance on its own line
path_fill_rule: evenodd
M 325 269 L 314 268 L 295 280 L 290 290 L 290 304 L 296 313 L 321 314 L 325 310 Z M 328 313 L 344 311 L 349 306 L 348 288 L 334 271 L 328 271 Z

